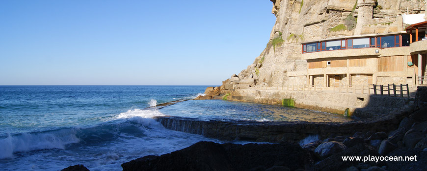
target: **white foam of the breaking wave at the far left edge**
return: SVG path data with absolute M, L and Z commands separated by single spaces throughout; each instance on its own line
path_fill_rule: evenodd
M 60 129 L 50 132 L 8 135 L 0 140 L 0 158 L 13 157 L 14 152 L 42 149 L 64 149 L 65 145 L 78 143 L 75 129 Z

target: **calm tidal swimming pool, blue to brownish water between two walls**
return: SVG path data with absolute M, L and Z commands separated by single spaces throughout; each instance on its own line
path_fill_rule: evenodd
M 162 114 L 200 120 L 306 121 L 344 123 L 353 119 L 334 113 L 224 100 L 189 100 L 159 109 Z

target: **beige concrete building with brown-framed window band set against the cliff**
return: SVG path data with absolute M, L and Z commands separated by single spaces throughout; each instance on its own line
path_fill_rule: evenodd
M 358 23 L 356 36 L 301 43 L 302 60 L 307 61 L 306 83 L 322 87 L 369 84 L 408 84 L 413 87 L 427 84 L 423 81 L 427 80 L 424 78 L 427 74 L 427 40 L 423 41 L 427 34 L 427 21 L 409 25 L 405 21 L 411 19 L 410 15 L 403 19 L 400 15 L 379 21 L 372 19 L 372 12 L 366 12 L 369 8 L 372 11 L 371 4 L 360 3 L 359 6 L 359 10 L 365 11 L 363 15 L 359 14 L 364 24 Z M 375 31 L 372 26 L 379 24 L 377 22 L 386 23 L 382 25 L 388 31 L 369 34 Z M 301 74 L 295 76 L 300 77 Z

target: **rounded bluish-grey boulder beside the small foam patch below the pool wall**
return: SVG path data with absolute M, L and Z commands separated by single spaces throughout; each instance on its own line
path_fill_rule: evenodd
M 330 142 L 325 142 L 320 144 L 315 150 L 314 152 L 316 153 L 316 155 L 321 158 L 324 159 L 326 157 L 331 156 L 332 154 L 341 152 L 343 150 L 346 150 L 347 147 L 340 142 L 336 142 L 336 141 L 330 141 Z

